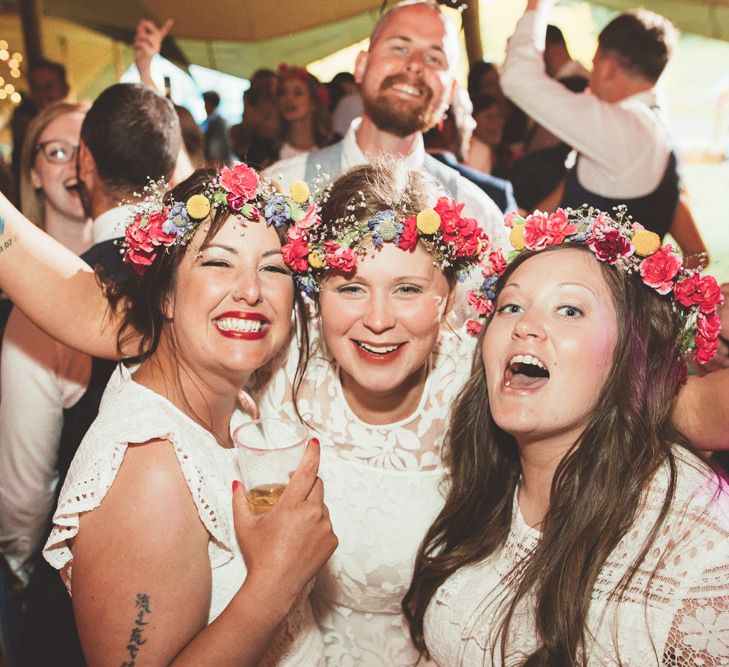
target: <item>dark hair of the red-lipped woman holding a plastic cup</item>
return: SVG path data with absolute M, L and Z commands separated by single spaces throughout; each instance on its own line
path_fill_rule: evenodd
M 218 176 L 218 170 L 213 168 L 198 169 L 165 195 L 165 202 L 187 201 L 192 195 L 203 193 L 207 186 Z M 210 214 L 209 227 L 201 249 L 207 247 L 222 226 L 228 220 L 230 213 L 222 207 L 214 208 Z M 265 222 L 255 223 L 265 224 Z M 281 243 L 286 242 L 287 227 L 284 225 L 276 229 Z M 143 275 L 130 276 L 122 282 L 113 282 L 105 279 L 107 298 L 112 308 L 122 309 L 122 324 L 117 337 L 117 348 L 121 354 L 123 349 L 135 349 L 137 354 L 127 356 L 127 364 L 140 363 L 149 359 L 159 347 L 163 335 L 168 336 L 169 344 L 174 349 L 174 339 L 165 327 L 165 304 L 174 290 L 177 271 L 188 245 L 174 245 L 160 252 L 147 268 Z M 297 378 L 303 372 L 306 359 L 309 355 L 309 334 L 306 326 L 307 314 L 304 300 L 294 287 L 294 316 L 295 335 L 299 344 L 299 366 Z

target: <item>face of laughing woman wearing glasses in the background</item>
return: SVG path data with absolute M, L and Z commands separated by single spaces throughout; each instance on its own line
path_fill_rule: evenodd
M 52 209 L 65 218 L 85 222 L 81 198 L 76 189 L 76 160 L 73 149 L 78 147 L 81 112 L 65 113 L 54 118 L 41 132 L 36 146 L 38 149 L 31 165 L 30 179 L 33 187 L 43 191 L 46 210 Z M 47 154 L 50 154 L 50 159 Z M 68 158 L 64 164 L 59 159 Z M 55 160 L 55 161 L 52 161 Z

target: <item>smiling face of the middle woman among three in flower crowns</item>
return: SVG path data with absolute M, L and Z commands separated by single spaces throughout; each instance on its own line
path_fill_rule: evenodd
M 358 407 L 382 400 L 391 421 L 417 408 L 449 294 L 424 248 L 405 252 L 391 243 L 361 258 L 353 275 L 331 272 L 322 281 L 322 333 L 362 419 L 377 423 Z

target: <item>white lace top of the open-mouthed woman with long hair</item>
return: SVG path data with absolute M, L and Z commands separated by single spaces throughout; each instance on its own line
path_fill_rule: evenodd
M 589 665 L 719 667 L 729 665 L 729 495 L 716 479 L 681 454 L 676 497 L 654 548 L 619 602 L 610 591 L 655 525 L 665 470 L 656 475 L 630 531 L 600 572 L 588 612 Z M 425 615 L 428 649 L 441 667 L 519 665 L 538 648 L 528 604 L 517 609 L 502 662 L 496 610 L 509 595 L 503 579 L 537 545 L 540 534 L 514 503 L 504 547 L 464 567 L 436 592 Z M 657 568 L 657 569 L 656 569 Z M 651 574 L 656 574 L 651 581 Z M 492 658 L 491 646 L 497 646 Z

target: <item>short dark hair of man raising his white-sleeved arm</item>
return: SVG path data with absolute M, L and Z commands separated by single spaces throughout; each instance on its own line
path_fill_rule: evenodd
M 651 83 L 663 73 L 675 44 L 673 24 L 645 9 L 621 14 L 598 37 L 601 51 L 615 55 L 624 70 Z

